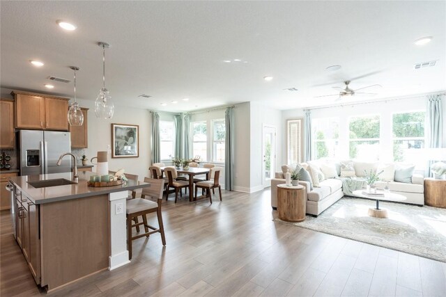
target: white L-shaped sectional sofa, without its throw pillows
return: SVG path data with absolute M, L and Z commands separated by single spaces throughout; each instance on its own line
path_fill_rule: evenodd
M 312 166 L 318 166 L 321 162 L 327 162 L 326 160 L 318 160 L 312 162 Z M 333 161 L 331 161 L 333 162 Z M 364 163 L 360 161 L 352 161 L 355 168 L 355 176 L 353 178 L 362 179 L 365 176 L 365 171 L 378 170 L 378 163 Z M 310 162 L 309 162 L 310 163 Z M 340 163 L 340 162 L 339 162 Z M 325 209 L 328 209 L 334 202 L 341 199 L 345 194 L 342 188 L 342 180 L 339 177 L 341 174 L 339 163 L 334 161 L 334 166 L 337 168 L 337 177 L 326 178 L 319 182 L 318 186 L 310 187 L 309 182 L 300 180 L 299 184 L 305 186 L 305 197 L 307 201 L 307 214 L 318 216 Z M 399 166 L 400 164 L 395 164 Z M 402 165 L 402 164 L 401 164 Z M 284 184 L 284 173 L 286 170 L 294 170 L 295 166 L 282 166 L 282 172 L 276 172 L 275 178 L 271 179 L 271 206 L 273 209 L 277 208 L 277 185 Z M 389 180 L 388 185 L 390 191 L 406 196 L 407 200 L 401 202 L 408 204 L 415 204 L 418 206 L 424 205 L 424 177 L 419 174 L 413 174 L 408 182 L 395 182 Z M 378 189 L 383 189 L 387 181 L 376 182 Z M 365 187 L 365 184 L 364 184 Z M 352 194 L 348 194 L 353 196 Z

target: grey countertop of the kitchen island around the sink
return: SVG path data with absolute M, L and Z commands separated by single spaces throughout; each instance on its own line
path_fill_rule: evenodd
M 67 184 L 63 186 L 48 186 L 45 188 L 34 188 L 28 182 L 36 182 L 48 179 L 72 179 L 72 172 L 52 173 L 48 175 L 24 175 L 20 177 L 10 177 L 9 181 L 15 184 L 20 191 L 26 195 L 34 204 L 43 204 L 63 200 L 85 198 L 89 196 L 102 195 L 120 191 L 132 191 L 137 188 L 150 186 L 146 182 L 135 182 L 129 179 L 119 186 L 91 187 L 87 186 L 91 175 L 95 172 L 79 172 L 77 184 Z

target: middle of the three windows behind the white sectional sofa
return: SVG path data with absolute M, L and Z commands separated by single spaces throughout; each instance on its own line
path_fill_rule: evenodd
M 380 118 L 367 115 L 350 118 L 350 158 L 367 161 L 379 159 Z

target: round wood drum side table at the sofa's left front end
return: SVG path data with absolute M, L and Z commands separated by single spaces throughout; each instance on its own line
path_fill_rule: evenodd
M 277 211 L 281 220 L 302 222 L 306 206 L 304 186 L 277 185 Z

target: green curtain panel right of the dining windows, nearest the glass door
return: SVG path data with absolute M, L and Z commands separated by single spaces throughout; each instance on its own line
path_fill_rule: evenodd
M 224 124 L 226 125 L 226 147 L 224 159 L 224 188 L 233 191 L 234 187 L 234 115 L 233 106 L 224 112 Z

